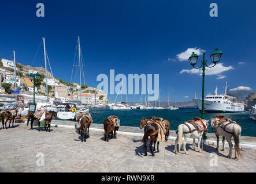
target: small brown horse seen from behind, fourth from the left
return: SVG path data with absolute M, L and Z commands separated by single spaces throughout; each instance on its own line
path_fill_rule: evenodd
M 103 122 L 103 127 L 104 127 L 104 136 L 105 136 L 105 141 L 109 141 L 109 132 L 112 131 L 111 137 L 113 138 L 113 133 L 114 133 L 114 139 L 117 138 L 116 136 L 116 131 L 118 131 L 118 123 L 117 123 L 117 116 L 109 116 L 107 117 L 104 122 Z

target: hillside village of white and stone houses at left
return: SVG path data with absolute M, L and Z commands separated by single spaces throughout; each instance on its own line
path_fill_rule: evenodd
M 45 69 L 43 67 L 24 66 L 16 63 L 16 85 L 20 90 L 20 94 L 33 95 L 34 82 L 29 79 L 29 74 L 40 74 L 40 79 L 35 81 L 35 94 L 46 96 L 46 78 Z M 12 94 L 14 90 L 14 63 L 12 60 L 0 60 L 0 94 Z M 84 105 L 106 105 L 107 95 L 95 87 L 87 85 L 79 85 L 77 83 L 69 83 L 56 79 L 47 71 L 47 85 L 49 98 L 76 100 L 81 98 Z M 80 95 L 81 89 L 81 95 Z M 96 102 L 95 102 L 96 95 Z

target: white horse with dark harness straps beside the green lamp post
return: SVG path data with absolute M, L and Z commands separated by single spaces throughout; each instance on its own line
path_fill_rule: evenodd
M 208 130 L 208 122 L 209 120 L 202 119 L 203 127 L 206 132 Z M 183 124 L 180 124 L 178 126 L 177 138 L 175 140 L 175 154 L 177 154 L 177 143 L 179 142 L 179 152 L 180 152 L 180 146 L 181 144 L 183 144 L 185 154 L 188 155 L 187 149 L 185 148 L 185 144 L 188 142 L 188 138 L 190 137 L 193 138 L 193 149 L 195 150 L 195 139 L 197 139 L 198 152 L 202 152 L 200 150 L 202 135 L 203 135 L 203 132 L 199 132 L 190 122 L 184 122 Z M 183 141 L 182 141 L 182 137 L 184 137 Z

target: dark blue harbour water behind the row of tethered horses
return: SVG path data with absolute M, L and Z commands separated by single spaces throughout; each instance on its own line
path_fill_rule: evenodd
M 103 121 L 108 116 L 118 116 L 121 126 L 139 127 L 140 120 L 143 117 L 150 118 L 152 116 L 162 117 L 170 122 L 170 129 L 176 130 L 177 125 L 186 120 L 192 120 L 194 117 L 201 117 L 198 109 L 192 108 L 180 108 L 180 110 L 110 110 L 104 108 L 90 109 L 90 113 L 94 123 L 103 124 Z M 250 113 L 206 113 L 205 119 L 210 120 L 214 118 L 214 115 L 224 115 L 227 118 L 231 118 L 233 121 L 238 122 L 242 127 L 242 136 L 254 136 L 256 137 L 256 121 L 250 119 Z M 214 133 L 212 127 L 208 132 Z

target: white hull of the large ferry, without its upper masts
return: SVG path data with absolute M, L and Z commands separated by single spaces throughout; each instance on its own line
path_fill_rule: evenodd
M 200 112 L 202 112 L 202 99 L 193 99 L 198 106 Z M 205 100 L 205 113 L 239 113 L 244 112 L 243 104 L 230 103 L 224 104 L 221 102 L 214 102 Z

